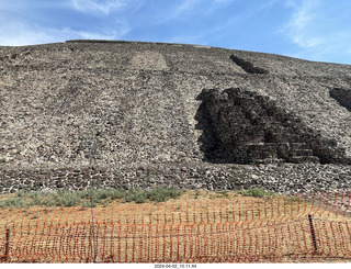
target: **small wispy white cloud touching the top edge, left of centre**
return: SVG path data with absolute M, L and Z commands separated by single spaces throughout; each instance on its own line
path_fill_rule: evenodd
M 72 7 L 86 13 L 103 13 L 110 14 L 115 11 L 120 11 L 127 5 L 125 0 L 71 0 Z

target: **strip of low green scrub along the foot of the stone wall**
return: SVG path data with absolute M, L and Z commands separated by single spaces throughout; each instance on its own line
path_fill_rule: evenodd
M 184 190 L 177 189 L 150 189 L 150 190 L 121 190 L 121 189 L 98 189 L 83 190 L 83 191 L 68 191 L 57 190 L 50 193 L 42 193 L 39 191 L 19 191 L 9 195 L 0 195 L 0 209 L 29 209 L 31 206 L 45 206 L 45 208 L 71 208 L 82 206 L 94 208 L 98 204 L 107 206 L 113 202 L 123 203 L 147 203 L 147 202 L 165 202 L 169 199 L 177 199 L 184 194 Z M 188 191 L 194 199 L 216 199 L 233 197 L 253 197 L 253 198 L 268 198 L 274 195 L 274 192 L 265 191 L 259 188 L 248 189 L 244 191 L 214 191 L 208 192 L 204 190 Z M 92 195 L 91 195 L 92 194 Z

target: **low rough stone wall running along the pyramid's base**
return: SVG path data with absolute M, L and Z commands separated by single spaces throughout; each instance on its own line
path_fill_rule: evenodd
M 304 164 L 174 164 L 125 167 L 2 167 L 0 193 L 19 190 L 52 192 L 58 189 L 207 189 L 263 188 L 278 193 L 348 189 L 351 166 Z

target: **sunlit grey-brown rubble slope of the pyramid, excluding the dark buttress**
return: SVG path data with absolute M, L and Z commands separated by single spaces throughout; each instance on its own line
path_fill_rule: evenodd
M 220 137 L 215 137 L 214 119 L 201 110 L 204 89 L 238 88 L 268 97 L 343 150 L 343 161 L 331 161 L 337 167 L 351 156 L 351 113 L 340 102 L 351 94 L 348 65 L 196 45 L 101 41 L 0 47 L 0 63 L 4 178 L 20 170 L 35 178 L 64 168 L 91 178 L 92 167 L 132 167 L 128 177 L 143 181 L 136 176 L 140 167 L 165 167 L 168 175 L 170 167 L 189 172 L 186 167 L 223 164 L 226 170 L 233 161 L 216 147 Z M 204 148 L 208 144 L 213 148 Z M 87 167 L 90 172 L 82 172 Z M 111 182 L 117 177 L 112 170 L 99 175 Z M 25 176 L 21 180 L 23 186 Z M 9 188 L 2 187 L 4 192 Z

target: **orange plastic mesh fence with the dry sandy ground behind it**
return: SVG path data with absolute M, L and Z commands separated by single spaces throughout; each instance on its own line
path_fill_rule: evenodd
M 350 192 L 0 211 L 3 262 L 350 261 Z

